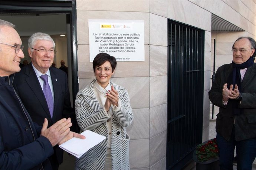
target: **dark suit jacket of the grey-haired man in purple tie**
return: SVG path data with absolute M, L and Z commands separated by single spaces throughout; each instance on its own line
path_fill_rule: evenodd
M 44 118 L 48 120 L 48 127 L 62 118 L 71 118 L 73 126 L 70 129 L 73 132 L 78 132 L 76 130 L 75 110 L 70 104 L 67 75 L 60 69 L 54 67 L 50 67 L 49 71 L 54 93 L 53 118 L 50 116 L 45 95 L 43 94 L 32 63 L 22 67 L 21 71 L 16 73 L 13 86 L 33 122 L 37 123 L 37 125 L 42 126 Z M 63 161 L 63 150 L 59 146 L 55 146 L 53 149 L 54 154 L 52 158 L 53 160 L 57 159 L 57 161 L 52 162 L 52 164 L 61 164 Z

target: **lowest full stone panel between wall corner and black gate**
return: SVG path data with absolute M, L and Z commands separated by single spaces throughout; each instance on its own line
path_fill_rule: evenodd
M 150 138 L 150 166 L 166 156 L 166 131 Z

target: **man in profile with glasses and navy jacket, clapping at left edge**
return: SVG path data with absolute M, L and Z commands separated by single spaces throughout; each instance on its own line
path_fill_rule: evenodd
M 72 137 L 85 137 L 70 131 L 70 118 L 50 127 L 45 118 L 42 126 L 32 122 L 12 86 L 13 74 L 20 71 L 19 62 L 24 58 L 22 41 L 14 27 L 0 20 L 0 169 L 51 170 L 47 157 L 53 154 L 53 146 Z

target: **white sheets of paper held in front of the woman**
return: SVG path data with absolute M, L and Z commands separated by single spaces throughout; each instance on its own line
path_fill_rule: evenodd
M 79 158 L 93 146 L 106 139 L 105 136 L 99 135 L 98 133 L 92 132 L 90 130 L 85 130 L 83 133 L 81 133 L 81 135 L 85 136 L 86 139 L 73 137 L 72 139 L 59 145 L 59 147 Z

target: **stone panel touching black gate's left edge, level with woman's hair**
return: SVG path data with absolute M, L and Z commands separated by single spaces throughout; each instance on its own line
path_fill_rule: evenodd
M 150 45 L 150 76 L 167 75 L 167 47 Z

